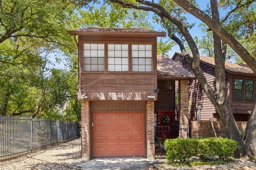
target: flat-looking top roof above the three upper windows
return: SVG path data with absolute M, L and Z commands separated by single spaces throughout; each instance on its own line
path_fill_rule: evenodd
M 165 36 L 165 32 L 159 32 L 149 29 L 141 29 L 141 28 L 109 28 L 109 27 L 92 27 L 92 28 L 83 28 L 77 30 L 70 30 L 69 33 L 71 35 L 78 35 L 78 34 L 89 34 L 89 33 L 102 33 L 102 34 L 120 34 L 120 33 L 147 33 L 149 35 L 155 36 Z

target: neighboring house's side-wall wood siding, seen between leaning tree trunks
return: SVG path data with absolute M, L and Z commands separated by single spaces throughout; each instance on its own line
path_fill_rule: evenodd
M 178 62 L 179 65 L 183 66 L 188 71 L 192 72 L 187 65 L 186 61 L 182 57 L 175 57 L 175 62 Z M 201 63 L 201 69 L 204 72 L 204 75 L 210 84 L 210 86 L 215 90 L 215 70 L 214 67 Z M 178 82 L 177 82 L 178 83 Z M 190 80 L 189 82 L 189 119 L 196 120 L 197 106 L 201 104 L 201 120 L 207 120 L 213 118 L 213 114 L 217 113 L 215 107 L 206 96 L 202 87 L 200 86 L 198 80 Z

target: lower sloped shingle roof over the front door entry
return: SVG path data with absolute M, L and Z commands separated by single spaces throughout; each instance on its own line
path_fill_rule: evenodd
M 157 56 L 157 76 L 187 79 L 195 78 L 192 73 L 166 55 Z

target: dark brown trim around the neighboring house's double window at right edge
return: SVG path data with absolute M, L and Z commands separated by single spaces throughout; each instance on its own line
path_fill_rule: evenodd
M 243 79 L 243 100 L 235 100 L 234 99 L 234 91 L 235 91 L 235 79 Z M 245 100 L 245 81 L 246 80 L 252 80 L 253 81 L 253 100 L 252 101 L 246 101 Z M 237 101 L 237 102 L 247 102 L 247 103 L 254 103 L 255 102 L 255 97 L 256 97 L 256 86 L 255 86 L 255 83 L 256 83 L 256 80 L 255 79 L 251 79 L 251 78 L 242 78 L 242 77 L 233 77 L 233 90 L 232 90 L 232 100 L 233 101 Z

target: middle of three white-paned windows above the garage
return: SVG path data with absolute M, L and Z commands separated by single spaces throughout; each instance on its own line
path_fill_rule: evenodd
M 108 44 L 108 71 L 128 71 L 128 45 Z

